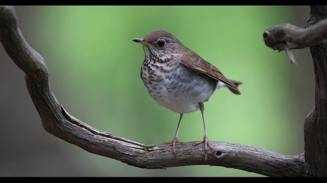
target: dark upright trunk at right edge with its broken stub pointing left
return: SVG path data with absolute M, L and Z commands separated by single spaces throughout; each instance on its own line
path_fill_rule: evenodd
M 327 176 L 327 6 L 310 7 L 306 28 L 281 24 L 268 28 L 263 36 L 267 46 L 285 49 L 290 59 L 290 48 L 310 46 L 316 105 L 305 120 L 305 166 L 312 176 Z

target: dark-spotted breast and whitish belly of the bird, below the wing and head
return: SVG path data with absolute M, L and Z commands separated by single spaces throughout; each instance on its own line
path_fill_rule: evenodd
M 170 64 L 145 60 L 142 80 L 151 97 L 161 106 L 177 113 L 198 110 L 198 103 L 208 100 L 217 81 L 171 60 Z

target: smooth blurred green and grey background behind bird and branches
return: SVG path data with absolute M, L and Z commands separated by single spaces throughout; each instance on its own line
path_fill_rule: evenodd
M 141 78 L 133 38 L 162 29 L 243 81 L 242 95 L 223 88 L 206 102 L 211 141 L 257 146 L 285 155 L 303 151 L 303 123 L 314 107 L 309 49 L 265 46 L 276 24 L 306 25 L 305 6 L 16 6 L 28 43 L 45 59 L 61 105 L 88 125 L 144 144 L 172 140 L 179 114 L 159 106 Z M 1 46 L 2 47 L 2 46 Z M 204 165 L 147 170 L 90 154 L 46 133 L 24 73 L 0 49 L 0 176 L 262 176 Z M 203 137 L 199 111 L 184 115 L 179 139 Z

